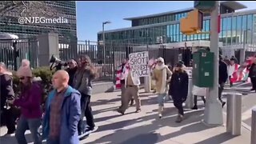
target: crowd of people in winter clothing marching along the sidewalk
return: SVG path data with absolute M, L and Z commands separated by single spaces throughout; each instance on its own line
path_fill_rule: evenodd
M 253 86 L 251 90 L 256 91 L 256 58 L 246 61 L 250 61 L 247 62 L 249 64 L 246 65 L 246 69 L 250 71 L 249 77 Z M 226 81 L 233 86 L 234 77 L 239 77 L 238 74 L 234 74 L 239 67 L 236 62 L 236 58 L 230 58 L 225 62 L 222 56 L 219 57 L 218 98 L 222 106 L 225 105 L 222 101 L 222 90 Z M 98 77 L 97 70 L 86 55 L 80 56 L 77 60 L 70 59 L 67 65 L 66 70 L 57 70 L 54 73 L 53 90 L 48 94 L 46 102 L 42 102 L 42 86 L 35 81 L 28 60 L 22 60 L 22 66 L 17 70 L 20 81 L 18 96 L 14 94 L 12 73 L 6 69 L 3 62 L 0 63 L 1 118 L 8 129 L 7 134 L 15 134 L 18 144 L 27 143 L 26 130 L 30 130 L 36 144 L 42 143 L 43 139 L 49 144 L 77 144 L 79 138 L 84 138 L 97 130 L 90 106 L 92 81 Z M 182 122 L 182 103 L 186 101 L 189 82 L 189 74 L 184 70 L 183 62 L 176 63 L 172 69 L 171 66 L 166 66 L 163 58 L 157 58 L 150 60 L 149 65 L 154 91 L 158 95 L 158 117 L 162 118 L 165 100 L 171 97 L 178 110 L 176 122 Z M 129 60 L 124 59 L 118 68 L 116 78 L 116 87 L 120 88 L 122 93 L 118 113 L 125 114 L 129 103 L 131 106 L 134 102 L 135 112 L 139 113 L 142 110 L 138 92 L 140 85 L 140 78 L 133 76 L 130 70 Z M 195 110 L 198 107 L 197 94 L 194 95 L 192 109 Z M 203 101 L 206 102 L 205 98 Z M 44 110 L 42 103 L 45 103 Z M 15 113 L 17 107 L 20 108 L 20 114 Z M 83 122 L 84 117 L 86 123 Z M 42 126 L 42 134 L 38 132 L 39 126 Z

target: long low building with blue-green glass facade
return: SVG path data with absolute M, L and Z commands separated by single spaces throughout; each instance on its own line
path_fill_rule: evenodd
M 230 1 L 232 2 L 232 1 Z M 225 6 L 224 6 L 225 4 Z M 240 3 L 221 3 L 221 32 L 219 41 L 223 46 L 254 44 L 256 27 L 256 10 L 235 12 L 234 4 L 242 8 Z M 180 32 L 179 19 L 193 10 L 178 10 L 174 12 L 154 14 L 150 16 L 125 18 L 132 21 L 132 27 L 105 31 L 106 42 L 130 42 L 138 44 L 154 44 L 157 38 L 162 37 L 163 43 L 186 42 L 196 40 L 210 40 L 210 34 L 186 35 Z M 223 11 L 226 13 L 223 14 Z M 217 19 L 216 19 L 217 21 Z M 210 16 L 204 15 L 202 32 L 210 31 Z M 98 41 L 102 41 L 102 32 L 98 33 Z

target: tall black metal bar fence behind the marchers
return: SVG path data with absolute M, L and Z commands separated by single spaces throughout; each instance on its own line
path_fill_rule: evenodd
M 30 60 L 32 67 L 38 67 L 38 40 L 17 40 L 15 46 L 19 54 L 17 66 L 20 66 L 23 58 L 27 58 Z M 162 57 L 166 59 L 166 63 L 171 65 L 178 61 L 179 54 L 184 53 L 184 50 L 183 52 L 182 50 L 170 50 L 161 44 L 142 45 L 117 41 L 105 43 L 105 55 L 103 45 L 98 45 L 98 42 L 78 41 L 59 43 L 58 48 L 62 61 L 67 61 L 70 58 L 77 59 L 78 55 L 87 54 L 98 70 L 99 78 L 97 80 L 99 81 L 114 81 L 116 70 L 121 65 L 122 59 L 128 58 L 130 53 L 149 51 L 150 58 Z M 0 61 L 5 62 L 10 70 L 14 70 L 14 41 L 0 41 L 0 55 Z M 106 63 L 104 63 L 104 58 Z

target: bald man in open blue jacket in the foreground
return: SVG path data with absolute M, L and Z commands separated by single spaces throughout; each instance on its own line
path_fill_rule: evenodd
M 52 78 L 54 90 L 46 101 L 42 122 L 42 138 L 47 144 L 78 144 L 78 122 L 81 115 L 78 90 L 68 85 L 69 74 L 58 70 Z

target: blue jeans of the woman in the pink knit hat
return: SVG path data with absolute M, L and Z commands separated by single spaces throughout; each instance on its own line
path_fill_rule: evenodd
M 15 138 L 18 144 L 27 144 L 25 138 L 26 130 L 30 130 L 34 144 L 42 144 L 38 128 L 41 125 L 41 118 L 25 118 L 21 116 L 18 120 L 17 130 L 15 131 Z

